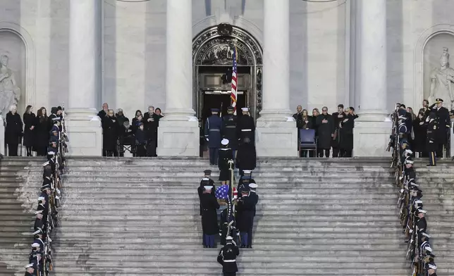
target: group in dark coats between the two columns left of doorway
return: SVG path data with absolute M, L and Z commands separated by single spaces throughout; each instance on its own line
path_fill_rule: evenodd
M 157 156 L 159 120 L 164 117 L 161 108 L 149 106 L 145 114 L 137 110 L 130 121 L 123 109 L 114 113 L 104 103 L 98 116 L 102 121 L 103 156 L 124 156 L 125 146 L 130 146 L 133 156 Z

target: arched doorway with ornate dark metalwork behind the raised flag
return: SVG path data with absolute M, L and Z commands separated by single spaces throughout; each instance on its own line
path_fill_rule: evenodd
M 210 108 L 221 108 L 223 115 L 231 105 L 233 48 L 237 51 L 237 108 L 249 107 L 257 119 L 262 108 L 262 47 L 245 30 L 229 24 L 209 27 L 192 43 L 193 108 L 203 130 Z M 229 76 L 230 74 L 230 76 Z M 240 115 L 240 113 L 239 113 Z

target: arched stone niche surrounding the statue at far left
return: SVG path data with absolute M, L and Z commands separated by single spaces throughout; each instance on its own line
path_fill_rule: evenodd
M 18 93 L 19 101 L 18 101 L 18 113 L 22 117 L 22 114 L 25 111 L 25 73 L 26 73 L 26 57 L 27 51 L 25 49 L 25 44 L 23 40 L 15 33 L 8 30 L 0 30 L 0 56 L 7 56 L 7 58 L 0 58 L 1 60 L 8 61 L 6 67 L 4 65 L 0 65 L 3 67 L 4 71 L 8 72 L 8 77 L 4 80 L 2 79 L 2 72 L 0 72 L 0 108 L 5 108 L 9 105 L 6 103 L 5 99 L 11 99 L 11 96 L 6 96 L 8 92 L 4 92 L 4 90 L 13 89 L 16 94 Z M 16 85 L 13 85 L 13 82 Z M 9 108 L 6 108 L 4 116 L 8 113 Z M 34 108 L 34 112 L 36 113 L 36 107 Z

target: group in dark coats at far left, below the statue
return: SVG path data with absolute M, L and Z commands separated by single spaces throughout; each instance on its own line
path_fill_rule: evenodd
M 47 109 L 42 107 L 35 115 L 33 107 L 27 106 L 20 118 L 17 106 L 11 106 L 5 118 L 5 146 L 8 147 L 8 156 L 20 155 L 19 145 L 25 146 L 26 156 L 33 156 L 34 152 L 37 156 L 46 156 L 51 129 L 56 119 L 61 120 L 62 112 L 63 108 L 58 106 L 51 108 L 51 114 L 47 115 Z

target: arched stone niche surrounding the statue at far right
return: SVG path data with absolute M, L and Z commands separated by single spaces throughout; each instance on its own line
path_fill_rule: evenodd
M 441 98 L 444 101 L 443 106 L 454 108 L 454 34 L 438 32 L 432 35 L 424 46 L 423 58 L 424 99 L 434 103 L 436 98 Z M 446 65 L 442 67 L 441 63 Z M 452 80 L 449 80 L 450 78 Z

